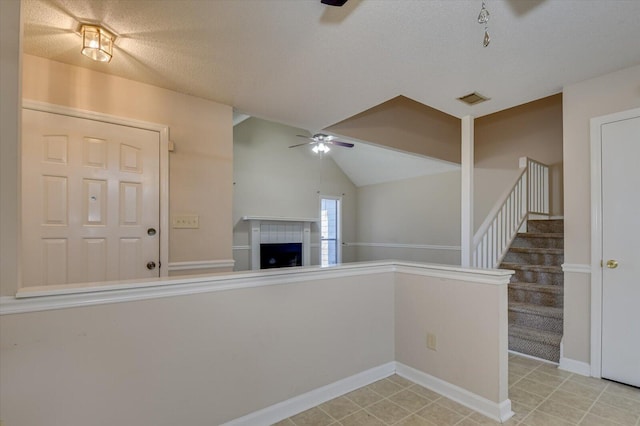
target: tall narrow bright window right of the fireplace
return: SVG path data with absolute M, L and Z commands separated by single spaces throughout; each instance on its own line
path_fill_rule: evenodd
M 336 265 L 340 253 L 340 198 L 320 199 L 320 265 Z

